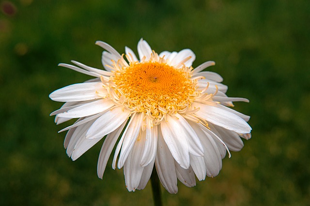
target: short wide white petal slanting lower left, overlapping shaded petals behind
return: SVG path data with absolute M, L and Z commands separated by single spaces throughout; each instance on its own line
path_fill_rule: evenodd
M 112 108 L 111 110 L 105 112 L 101 117 L 96 119 L 91 128 L 89 128 L 86 134 L 86 138 L 95 139 L 113 132 L 119 126 L 121 126 L 124 121 L 126 121 L 126 119 L 129 117 L 129 114 L 130 111 L 125 108 Z

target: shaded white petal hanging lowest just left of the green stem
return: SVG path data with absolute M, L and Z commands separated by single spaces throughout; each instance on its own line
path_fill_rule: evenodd
M 141 136 L 135 141 L 133 149 L 128 155 L 124 164 L 124 176 L 128 191 L 135 191 L 141 180 L 144 167 L 140 166 L 141 156 L 144 150 L 145 136 Z

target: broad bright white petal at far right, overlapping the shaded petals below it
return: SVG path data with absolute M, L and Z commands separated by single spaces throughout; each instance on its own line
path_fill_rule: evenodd
M 197 116 L 204 118 L 212 124 L 237 133 L 249 133 L 252 130 L 245 120 L 231 112 L 202 103 L 193 103 L 192 106 L 200 108 L 195 113 Z

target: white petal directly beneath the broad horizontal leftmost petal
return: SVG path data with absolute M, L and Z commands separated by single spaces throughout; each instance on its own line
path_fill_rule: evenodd
M 58 117 L 62 118 L 81 118 L 104 112 L 115 104 L 109 99 L 101 99 L 91 103 L 85 103 L 67 112 L 61 113 Z

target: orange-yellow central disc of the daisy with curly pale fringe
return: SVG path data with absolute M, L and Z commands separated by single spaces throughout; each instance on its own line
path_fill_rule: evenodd
M 175 68 L 161 61 L 131 62 L 110 77 L 112 99 L 135 112 L 143 112 L 156 125 L 166 114 L 185 110 L 197 96 L 192 68 Z

